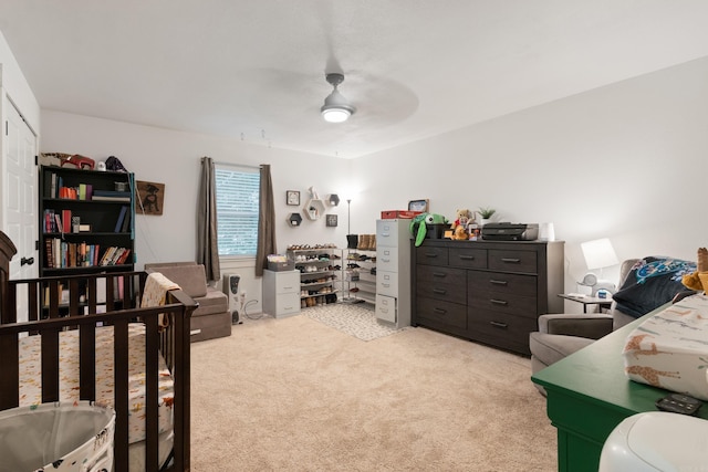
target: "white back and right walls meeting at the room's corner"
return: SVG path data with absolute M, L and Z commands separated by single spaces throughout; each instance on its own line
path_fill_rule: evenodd
M 566 291 L 576 291 L 583 241 L 607 237 L 620 259 L 695 260 L 707 244 L 706 103 L 708 59 L 354 160 L 48 111 L 41 148 L 115 155 L 138 179 L 167 185 L 165 214 L 137 219 L 138 266 L 194 259 L 199 157 L 208 155 L 272 165 L 280 252 L 296 242 L 345 247 L 346 196 L 353 233 L 373 233 L 381 210 L 412 199 L 429 198 L 448 218 L 490 206 L 503 221 L 553 222 L 566 241 Z M 300 190 L 304 202 L 310 186 L 343 197 L 333 211 L 340 227 L 288 227 L 285 190 Z

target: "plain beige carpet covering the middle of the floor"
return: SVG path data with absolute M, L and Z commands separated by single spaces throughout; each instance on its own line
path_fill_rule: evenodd
M 363 342 L 304 313 L 192 344 L 194 471 L 556 470 L 528 358 L 425 328 Z

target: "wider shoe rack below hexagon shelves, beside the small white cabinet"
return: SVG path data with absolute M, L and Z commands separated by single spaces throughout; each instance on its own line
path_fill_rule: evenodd
M 300 272 L 300 307 L 336 303 L 342 290 L 342 254 L 335 244 L 294 244 L 288 259 Z

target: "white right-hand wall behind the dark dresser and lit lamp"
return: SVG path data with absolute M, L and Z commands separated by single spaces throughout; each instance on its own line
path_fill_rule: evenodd
M 371 155 L 356 161 L 366 186 L 352 218 L 368 231 L 378 209 L 430 198 L 448 218 L 490 206 L 502 221 L 553 222 L 566 291 L 586 271 L 579 244 L 596 238 L 621 260 L 696 260 L 708 244 L 707 104 L 701 59 Z

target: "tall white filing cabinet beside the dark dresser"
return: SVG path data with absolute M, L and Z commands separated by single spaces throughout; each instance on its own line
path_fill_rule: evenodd
M 410 325 L 410 220 L 376 221 L 376 318 Z

